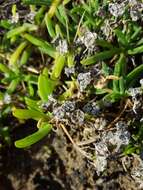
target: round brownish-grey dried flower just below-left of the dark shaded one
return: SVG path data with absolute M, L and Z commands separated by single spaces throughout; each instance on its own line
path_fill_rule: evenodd
M 84 112 L 80 109 L 75 110 L 71 113 L 71 122 L 76 125 L 83 125 L 84 123 Z

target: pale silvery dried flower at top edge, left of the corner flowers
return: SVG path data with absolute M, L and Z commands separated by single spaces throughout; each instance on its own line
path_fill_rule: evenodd
M 125 12 L 125 4 L 109 3 L 109 12 L 115 17 L 122 16 Z

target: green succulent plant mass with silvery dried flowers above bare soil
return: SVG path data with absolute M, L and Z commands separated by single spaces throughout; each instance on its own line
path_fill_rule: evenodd
M 85 132 L 90 123 L 94 135 L 101 131 L 94 141 L 99 172 L 121 147 L 126 154 L 141 152 L 143 3 L 23 0 L 23 5 L 24 18 L 14 4 L 9 19 L 0 21 L 0 117 L 12 112 L 19 121 L 37 121 L 37 131 L 15 146 L 29 147 L 60 124 L 85 126 Z M 122 113 L 130 108 L 135 119 L 118 121 L 120 116 L 115 131 L 108 131 L 111 119 L 101 118 L 120 107 Z

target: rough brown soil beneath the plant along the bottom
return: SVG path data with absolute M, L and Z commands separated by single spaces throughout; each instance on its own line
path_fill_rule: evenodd
M 13 140 L 24 135 L 23 128 L 27 126 L 15 128 Z M 138 189 L 130 175 L 134 157 L 111 158 L 106 172 L 98 176 L 61 129 L 29 149 L 3 147 L 0 153 L 0 190 Z

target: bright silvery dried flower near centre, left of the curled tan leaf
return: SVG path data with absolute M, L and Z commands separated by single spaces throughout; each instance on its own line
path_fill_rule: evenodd
M 79 73 L 77 80 L 79 83 L 80 91 L 83 92 L 92 80 L 91 73 Z

